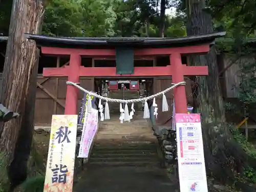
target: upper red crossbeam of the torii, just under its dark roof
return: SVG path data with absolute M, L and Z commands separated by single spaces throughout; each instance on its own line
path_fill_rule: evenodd
M 86 55 L 86 56 L 115 56 L 115 49 L 71 49 L 71 48 L 56 48 L 56 47 L 41 47 L 43 54 L 50 55 Z M 174 47 L 174 48 L 146 48 L 135 49 L 134 55 L 148 56 L 148 55 L 170 55 L 173 53 L 188 54 L 188 53 L 208 53 L 209 45 L 188 46 L 188 47 Z

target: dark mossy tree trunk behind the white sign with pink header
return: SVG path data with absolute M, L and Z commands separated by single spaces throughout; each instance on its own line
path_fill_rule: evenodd
M 212 33 L 211 16 L 203 11 L 205 0 L 187 0 L 187 35 Z M 255 168 L 253 160 L 244 152 L 242 147 L 234 141 L 226 125 L 223 98 L 220 91 L 218 76 L 217 54 L 215 46 L 206 55 L 190 56 L 191 66 L 208 66 L 208 76 L 195 77 L 198 84 L 197 99 L 202 116 L 204 154 L 207 175 L 223 183 L 233 184 L 236 178 L 234 172 L 242 173 L 243 168 L 250 165 Z M 236 182 L 243 191 L 248 185 Z

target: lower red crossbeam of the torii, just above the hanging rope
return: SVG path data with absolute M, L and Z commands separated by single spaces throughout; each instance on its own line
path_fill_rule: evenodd
M 182 73 L 184 76 L 200 76 L 208 75 L 208 68 L 206 66 L 186 66 L 182 65 Z M 166 67 L 135 67 L 134 74 L 119 75 L 116 74 L 115 67 L 96 67 L 88 68 L 80 66 L 79 76 L 84 77 L 152 77 L 152 76 L 172 76 L 174 70 L 172 66 Z M 45 77 L 67 77 L 70 73 L 70 66 L 64 68 L 45 68 L 43 75 Z

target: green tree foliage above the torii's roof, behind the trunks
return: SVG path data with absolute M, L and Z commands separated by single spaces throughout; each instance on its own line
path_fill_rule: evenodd
M 0 2 L 0 35 L 8 35 L 12 1 Z M 160 1 L 49 0 L 42 34 L 77 37 L 158 37 Z M 175 6 L 165 1 L 165 7 Z M 164 36 L 185 36 L 184 16 L 164 16 Z

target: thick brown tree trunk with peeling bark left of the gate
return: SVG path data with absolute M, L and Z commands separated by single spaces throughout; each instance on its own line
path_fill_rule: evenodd
M 1 102 L 20 116 L 1 126 L 0 149 L 8 159 L 12 186 L 27 176 L 27 159 L 34 131 L 38 51 L 24 33 L 37 34 L 44 14 L 43 0 L 13 0 L 3 71 Z

